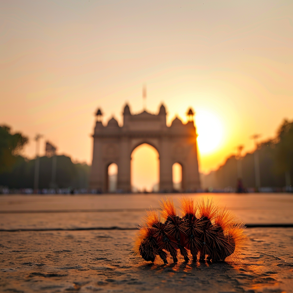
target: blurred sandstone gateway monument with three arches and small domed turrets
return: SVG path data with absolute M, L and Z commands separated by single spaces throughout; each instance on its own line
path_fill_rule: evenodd
M 97 116 L 101 116 L 98 110 Z M 93 134 L 93 162 L 90 187 L 99 192 L 108 192 L 108 166 L 118 166 L 117 190 L 131 192 L 130 161 L 132 151 L 140 144 L 147 143 L 159 153 L 161 192 L 172 192 L 172 165 L 182 166 L 182 189 L 185 192 L 200 188 L 197 162 L 196 129 L 193 112 L 188 112 L 189 121 L 183 124 L 175 118 L 170 127 L 166 125 L 166 110 L 161 105 L 157 115 L 143 111 L 132 115 L 126 105 L 123 113 L 123 126 L 110 119 L 107 126 L 97 120 Z

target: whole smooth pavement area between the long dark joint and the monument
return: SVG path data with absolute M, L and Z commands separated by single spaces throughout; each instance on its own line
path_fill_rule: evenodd
M 149 195 L 2 195 L 0 229 L 133 229 L 149 207 L 159 209 L 162 194 Z M 170 194 L 177 207 L 180 194 Z M 246 224 L 293 224 L 291 194 L 185 194 L 212 198 Z

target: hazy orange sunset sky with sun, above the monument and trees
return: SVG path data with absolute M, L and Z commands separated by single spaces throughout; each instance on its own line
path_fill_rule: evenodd
M 161 102 L 198 126 L 200 171 L 293 119 L 293 1 L 0 2 L 0 124 L 91 164 L 94 112 Z

